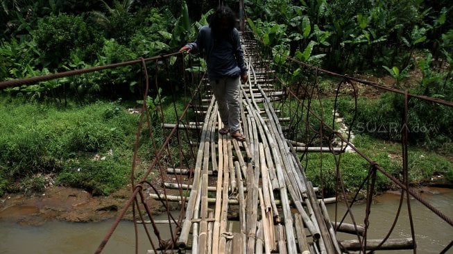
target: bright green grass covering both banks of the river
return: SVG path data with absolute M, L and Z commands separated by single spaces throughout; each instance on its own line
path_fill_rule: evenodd
M 341 98 L 341 103 L 348 101 Z M 350 101 L 350 99 L 349 99 Z M 293 102 L 291 102 L 293 103 Z M 340 105 L 343 105 L 341 104 Z M 164 103 L 164 121 L 176 122 L 185 108 L 180 100 Z M 368 105 L 372 107 L 372 105 Z M 376 103 L 374 107 L 379 104 Z M 127 108 L 139 107 L 134 102 L 98 101 L 83 106 L 69 105 L 61 107 L 43 103 L 24 103 L 22 100 L 0 97 L 0 194 L 4 192 L 24 191 L 40 192 L 46 185 L 46 174 L 54 176 L 55 184 L 87 189 L 92 194 L 109 194 L 123 187 L 130 181 L 135 135 L 139 115 L 130 115 Z M 320 112 L 318 101 L 311 104 L 313 110 Z M 293 105 L 292 105 L 293 107 Z M 294 108 L 294 107 L 293 107 Z M 332 121 L 333 100 L 323 101 L 323 111 L 327 121 Z M 175 113 L 175 109 L 178 114 Z M 291 115 L 289 106 L 282 108 Z M 287 111 L 286 111 L 287 110 Z M 341 107 L 339 108 L 341 110 Z M 347 111 L 344 111 L 348 113 Z M 370 110 L 370 112 L 375 112 Z M 297 113 L 297 112 L 296 112 Z M 348 119 L 348 116 L 345 117 Z M 350 118 L 349 118 L 350 119 Z M 160 110 L 151 115 L 152 124 L 160 122 Z M 305 124 L 305 120 L 300 124 Z M 309 121 L 315 130 L 319 123 L 311 117 Z M 304 128 L 305 130 L 305 128 Z M 139 167 L 146 169 L 146 164 L 155 157 L 155 149 L 146 125 L 139 139 Z M 152 128 L 157 148 L 164 137 L 162 128 Z M 167 131 L 167 130 L 164 130 Z M 185 135 L 185 133 L 181 133 Z M 188 137 L 183 137 L 188 139 Z M 356 133 L 354 145 L 368 158 L 381 165 L 388 173 L 400 178 L 402 171 L 401 146 L 399 142 L 389 141 L 369 135 Z M 185 146 L 178 151 L 179 145 Z M 171 153 L 187 153 L 186 143 L 178 144 L 176 139 L 169 143 Z M 453 151 L 451 143 L 444 143 L 444 151 Z M 443 176 L 453 181 L 452 158 L 431 151 L 425 146 L 409 146 L 409 180 L 412 185 L 422 185 L 433 176 Z M 336 167 L 334 157 L 328 153 L 309 153 L 302 160 L 306 167 L 308 180 L 314 185 L 323 183 L 326 193 L 333 193 Z M 178 156 L 171 160 L 180 164 Z M 187 156 L 183 156 L 186 158 Z M 97 159 L 96 159 L 97 158 Z M 99 160 L 99 158 L 105 158 Z M 190 158 L 190 156 L 189 156 Z M 169 158 L 162 158 L 167 160 Z M 168 163 L 162 161 L 162 163 Z M 191 164 L 191 162 L 189 163 Z M 320 166 L 322 164 L 322 175 Z M 357 190 L 368 174 L 368 162 L 357 153 L 341 155 L 341 176 L 349 191 Z M 137 175 L 136 175 L 137 176 Z M 321 183 L 322 181 L 322 183 Z M 382 173 L 378 173 L 377 189 L 393 187 Z

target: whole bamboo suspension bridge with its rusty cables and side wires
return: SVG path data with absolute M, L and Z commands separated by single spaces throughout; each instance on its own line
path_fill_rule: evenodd
M 409 187 L 407 129 L 402 128 L 404 177 L 400 179 L 388 173 L 379 162 L 359 151 L 352 143 L 353 133 L 347 126 L 343 131 L 339 131 L 338 124 L 326 124 L 326 119 L 331 120 L 338 116 L 336 105 L 333 112 L 321 110 L 320 115 L 311 107 L 315 101 L 322 101 L 317 92 L 320 76 L 339 79 L 337 96 L 344 90 L 342 87 L 348 87 L 350 93 L 357 98 L 357 85 L 368 85 L 376 90 L 402 94 L 405 105 L 402 112 L 403 127 L 407 126 L 405 123 L 408 98 L 427 100 L 447 107 L 452 107 L 453 103 L 382 87 L 377 83 L 306 65 L 287 56 L 275 55 L 271 49 L 254 40 L 250 32 L 241 33 L 241 40 L 250 77 L 247 83 L 241 85 L 241 128 L 246 135 L 245 142 L 238 142 L 229 134 L 219 134 L 221 121 L 218 109 L 210 92 L 209 81 L 204 72 L 200 71 L 200 61 L 196 56 L 173 53 L 0 83 L 0 88 L 13 87 L 139 64 L 144 75 L 146 98 L 151 90 L 151 81 L 155 81 L 157 90 L 164 85 L 160 83 L 160 76 L 181 76 L 184 92 L 189 94 L 191 99 L 185 103 L 184 110 L 175 109 L 176 122 L 167 122 L 161 111 L 160 128 L 164 141 L 160 146 L 156 140 L 162 140 L 162 137 L 155 137 L 152 130 L 155 125 L 151 124 L 146 103 L 143 105 L 137 133 L 146 133 L 142 130 L 148 130 L 155 146 L 155 156 L 148 169 L 137 172 L 138 158 L 135 153 L 131 170 L 132 193 L 123 210 L 119 211 L 112 228 L 106 232 L 96 253 L 103 251 L 128 210 L 133 210 L 135 227 L 144 228 L 144 233 L 148 236 L 150 247 L 146 252 L 149 254 L 366 253 L 398 249 L 413 249 L 415 253 L 416 233 L 412 226 L 410 209 L 408 214 L 401 214 L 411 220 L 410 237 L 389 238 L 393 227 L 382 239 L 367 237 L 367 233 L 373 230 L 367 222 L 373 211 L 372 201 L 376 193 L 375 181 L 378 172 L 402 189 L 400 198 L 408 208 L 411 206 L 411 198 L 414 198 L 445 221 L 446 227 L 453 226 L 450 217 L 432 207 Z M 180 69 L 169 71 L 168 67 L 162 68 L 169 66 L 172 58 L 177 58 L 177 62 L 180 62 Z M 296 66 L 304 78 L 293 83 L 293 86 L 285 85 L 289 81 L 283 78 L 293 76 L 293 68 L 279 69 L 273 64 L 277 58 L 278 61 L 285 62 L 287 67 Z M 148 69 L 151 71 L 151 68 L 147 67 L 146 62 L 155 63 L 151 75 L 148 74 Z M 320 108 L 323 108 L 322 104 Z M 318 123 L 316 126 L 314 121 Z M 140 138 L 137 135 L 137 142 Z M 362 211 L 364 223 L 354 220 L 357 216 L 351 209 L 357 202 L 357 194 L 354 198 L 348 198 L 342 184 L 341 155 L 346 151 L 361 155 L 369 165 L 364 169 L 368 174 L 361 179 L 361 189 L 357 191 L 357 194 L 365 192 L 366 210 Z M 325 153 L 336 158 L 336 169 L 333 169 L 337 176 L 335 196 L 324 197 L 323 186 L 313 186 L 311 180 L 305 176 L 307 164 L 302 164 L 301 158 L 307 153 Z M 322 170 L 322 161 L 319 162 L 319 167 Z M 159 178 L 162 185 L 153 185 L 155 182 L 151 181 L 151 175 L 153 178 Z M 157 202 L 165 208 L 166 219 L 155 219 L 149 206 L 150 200 L 154 201 L 153 204 Z M 326 203 L 332 202 L 343 203 L 347 208 L 345 214 L 330 218 Z M 178 210 L 171 211 L 170 203 L 176 203 Z M 400 207 L 401 205 L 402 203 Z M 348 233 L 350 239 L 339 239 L 338 232 Z M 450 242 L 439 251 L 447 253 L 452 245 L 453 242 Z M 137 250 L 138 247 L 136 253 Z

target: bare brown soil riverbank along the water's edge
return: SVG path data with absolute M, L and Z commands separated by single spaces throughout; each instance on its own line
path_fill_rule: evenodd
M 451 186 L 449 188 L 423 186 L 416 188 L 416 191 L 421 195 L 432 195 L 443 194 L 450 189 Z M 42 194 L 5 194 L 0 198 L 0 219 L 27 226 L 38 226 L 53 220 L 105 221 L 117 217 L 131 193 L 131 186 L 127 185 L 109 196 L 92 196 L 83 189 L 59 186 L 46 188 Z M 400 191 L 388 190 L 383 194 L 398 198 Z M 165 211 L 162 205 L 152 198 L 148 198 L 146 203 L 153 214 Z M 177 206 L 175 203 L 175 209 L 178 209 Z M 132 208 L 128 209 L 123 219 L 133 219 Z

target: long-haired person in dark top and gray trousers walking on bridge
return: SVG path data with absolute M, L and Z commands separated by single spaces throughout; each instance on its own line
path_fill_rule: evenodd
M 239 32 L 234 27 L 236 18 L 227 6 L 220 6 L 212 15 L 209 26 L 198 31 L 195 42 L 182 46 L 180 52 L 198 50 L 205 54 L 207 73 L 212 92 L 219 106 L 223 128 L 221 135 L 230 133 L 238 141 L 246 141 L 241 133 L 239 112 L 241 110 L 240 80 L 248 81 L 247 67 Z

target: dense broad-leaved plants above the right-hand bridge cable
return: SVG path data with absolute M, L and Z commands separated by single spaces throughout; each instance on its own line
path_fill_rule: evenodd
M 436 60 L 451 58 L 448 3 L 246 1 L 248 22 L 266 44 L 304 62 L 322 58 L 322 67 L 340 72 L 382 71 L 382 65 L 404 69 L 416 49 L 429 49 Z

